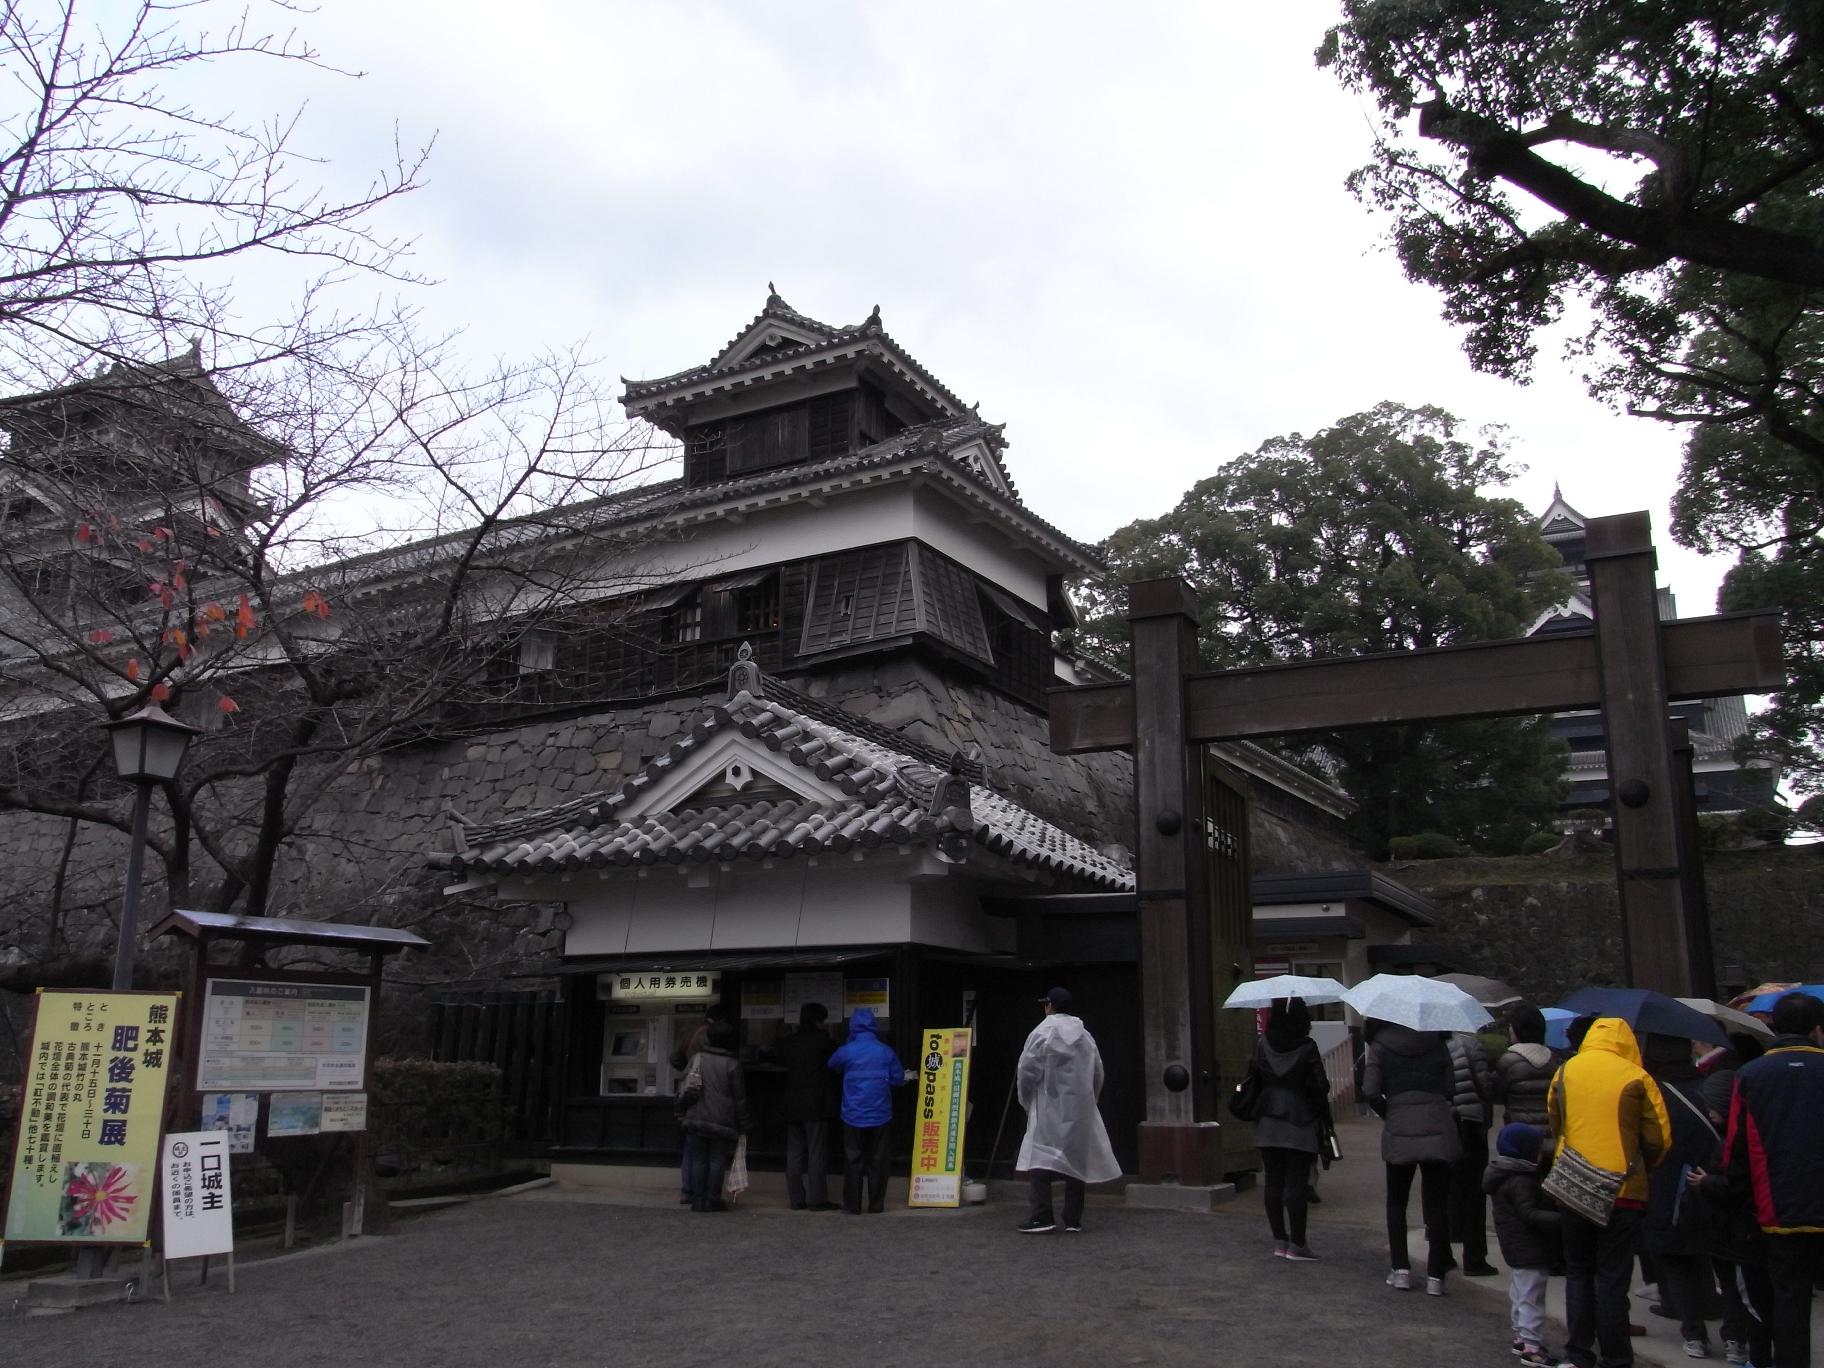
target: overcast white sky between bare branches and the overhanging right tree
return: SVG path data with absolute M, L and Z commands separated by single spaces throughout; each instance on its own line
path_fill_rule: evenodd
M 1311 51 L 1332 4 L 323 0 L 305 142 L 387 210 L 478 358 L 587 339 L 611 374 L 706 361 L 766 297 L 886 330 L 1007 423 L 1027 503 L 1083 540 L 1266 438 L 1381 399 L 1505 423 L 1538 511 L 1647 507 L 1680 611 L 1727 564 L 1665 536 L 1680 436 L 1556 352 L 1476 376 L 1342 188 L 1370 109 Z M 228 75 L 228 73 L 223 73 Z M 286 82 L 244 88 L 243 109 Z M 268 69 L 266 78 L 274 73 Z

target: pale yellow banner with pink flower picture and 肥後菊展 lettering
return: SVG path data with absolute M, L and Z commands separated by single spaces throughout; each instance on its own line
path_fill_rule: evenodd
M 177 1001 L 175 992 L 38 992 L 7 1240 L 146 1242 Z

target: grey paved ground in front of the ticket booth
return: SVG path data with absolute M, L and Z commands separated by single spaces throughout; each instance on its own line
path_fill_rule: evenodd
M 11 1319 L 0 1363 L 1510 1366 L 1496 1280 L 1452 1280 L 1443 1299 L 1381 1284 L 1375 1142 L 1373 1125 L 1344 1131 L 1352 1158 L 1313 1211 L 1315 1264 L 1268 1257 L 1251 1193 L 1207 1217 L 1093 1198 L 1085 1233 L 1020 1235 L 1025 1213 L 1000 1198 L 861 1218 L 759 1200 L 702 1217 L 540 1189 L 248 1262 L 232 1297 L 190 1264 L 168 1306 Z M 0 1284 L 0 1304 L 18 1286 Z M 1653 1357 L 1674 1363 L 1663 1344 Z

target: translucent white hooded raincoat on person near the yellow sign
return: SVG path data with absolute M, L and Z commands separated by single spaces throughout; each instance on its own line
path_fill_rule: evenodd
M 1027 1036 L 1014 1078 L 1027 1133 L 1014 1167 L 1047 1169 L 1083 1182 L 1122 1176 L 1096 1098 L 1102 1094 L 1102 1051 L 1082 1018 L 1052 1012 Z

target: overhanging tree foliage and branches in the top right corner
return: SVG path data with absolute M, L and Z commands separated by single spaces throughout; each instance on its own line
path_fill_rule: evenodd
M 1749 746 L 1824 790 L 1824 7 L 1344 0 L 1317 60 L 1379 106 L 1350 184 L 1477 368 L 1574 319 L 1596 396 L 1693 425 L 1673 534 L 1786 609 Z

